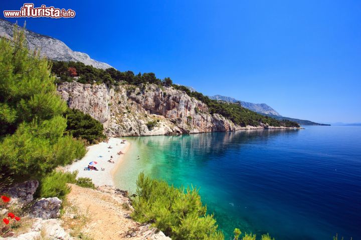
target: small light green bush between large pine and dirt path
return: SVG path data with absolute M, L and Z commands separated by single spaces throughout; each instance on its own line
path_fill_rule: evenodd
M 40 182 L 40 197 L 59 197 L 64 199 L 70 192 L 67 183 L 76 183 L 77 171 L 61 172 L 54 170 L 47 174 Z

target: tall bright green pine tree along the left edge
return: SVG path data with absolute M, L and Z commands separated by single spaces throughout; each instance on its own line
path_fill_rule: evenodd
M 23 31 L 0 39 L 0 167 L 8 176 L 38 177 L 85 154 L 64 135 L 66 103 L 56 93 L 51 64 L 29 52 Z

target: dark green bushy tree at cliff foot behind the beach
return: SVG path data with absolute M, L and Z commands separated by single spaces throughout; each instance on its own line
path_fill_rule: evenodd
M 86 139 L 90 144 L 105 138 L 103 124 L 77 109 L 68 109 L 66 131 L 76 138 Z

